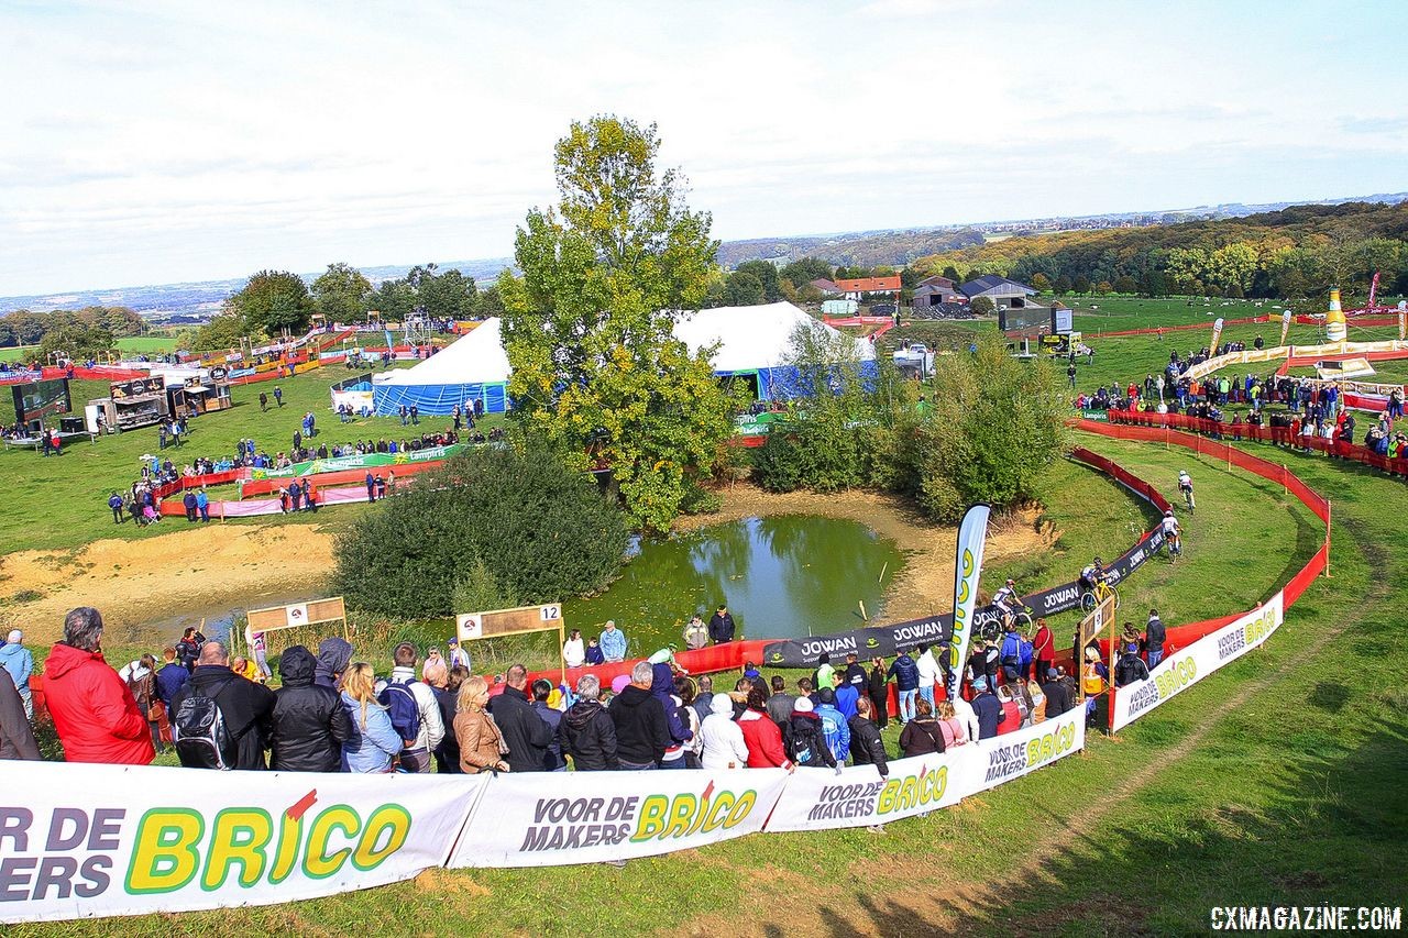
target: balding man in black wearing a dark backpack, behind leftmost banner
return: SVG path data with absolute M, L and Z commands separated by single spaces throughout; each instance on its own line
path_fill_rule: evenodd
M 221 642 L 206 642 L 172 697 L 176 756 L 187 769 L 263 769 L 273 704 L 272 690 L 231 670 Z

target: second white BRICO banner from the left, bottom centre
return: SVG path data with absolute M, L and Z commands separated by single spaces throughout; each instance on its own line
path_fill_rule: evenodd
M 545 772 L 490 782 L 449 866 L 558 866 L 653 856 L 763 830 L 787 773 Z

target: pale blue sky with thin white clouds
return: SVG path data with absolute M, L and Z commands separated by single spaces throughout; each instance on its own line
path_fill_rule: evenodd
M 724 239 L 1408 190 L 1405 3 L 0 0 L 0 296 L 507 256 L 573 120 Z

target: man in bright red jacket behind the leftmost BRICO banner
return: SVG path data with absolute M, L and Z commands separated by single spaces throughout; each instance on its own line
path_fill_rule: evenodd
M 82 606 L 63 617 L 63 641 L 44 662 L 44 699 L 69 762 L 146 765 L 155 758 L 146 714 L 103 661 L 103 615 Z

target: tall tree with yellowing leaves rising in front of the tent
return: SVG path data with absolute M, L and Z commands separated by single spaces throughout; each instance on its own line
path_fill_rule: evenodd
M 635 524 L 666 530 L 732 430 L 711 349 L 674 338 L 704 300 L 718 242 L 683 179 L 659 172 L 655 125 L 594 117 L 556 146 L 556 208 L 518 228 L 521 277 L 498 280 L 514 417 L 610 466 Z

